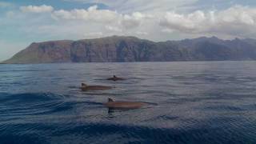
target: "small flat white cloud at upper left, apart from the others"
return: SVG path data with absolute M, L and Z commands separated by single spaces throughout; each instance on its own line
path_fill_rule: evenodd
M 52 6 L 21 6 L 20 10 L 24 13 L 49 13 L 54 10 Z

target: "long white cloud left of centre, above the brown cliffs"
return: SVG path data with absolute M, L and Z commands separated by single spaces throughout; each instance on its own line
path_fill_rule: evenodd
M 120 29 L 133 29 L 141 25 L 151 15 L 134 12 L 133 14 L 118 14 L 112 10 L 98 10 L 98 6 L 90 6 L 88 9 L 55 10 L 52 17 L 56 20 L 82 20 L 85 22 L 98 22 L 103 25 L 114 23 L 116 26 L 106 26 L 107 30 L 122 31 Z

